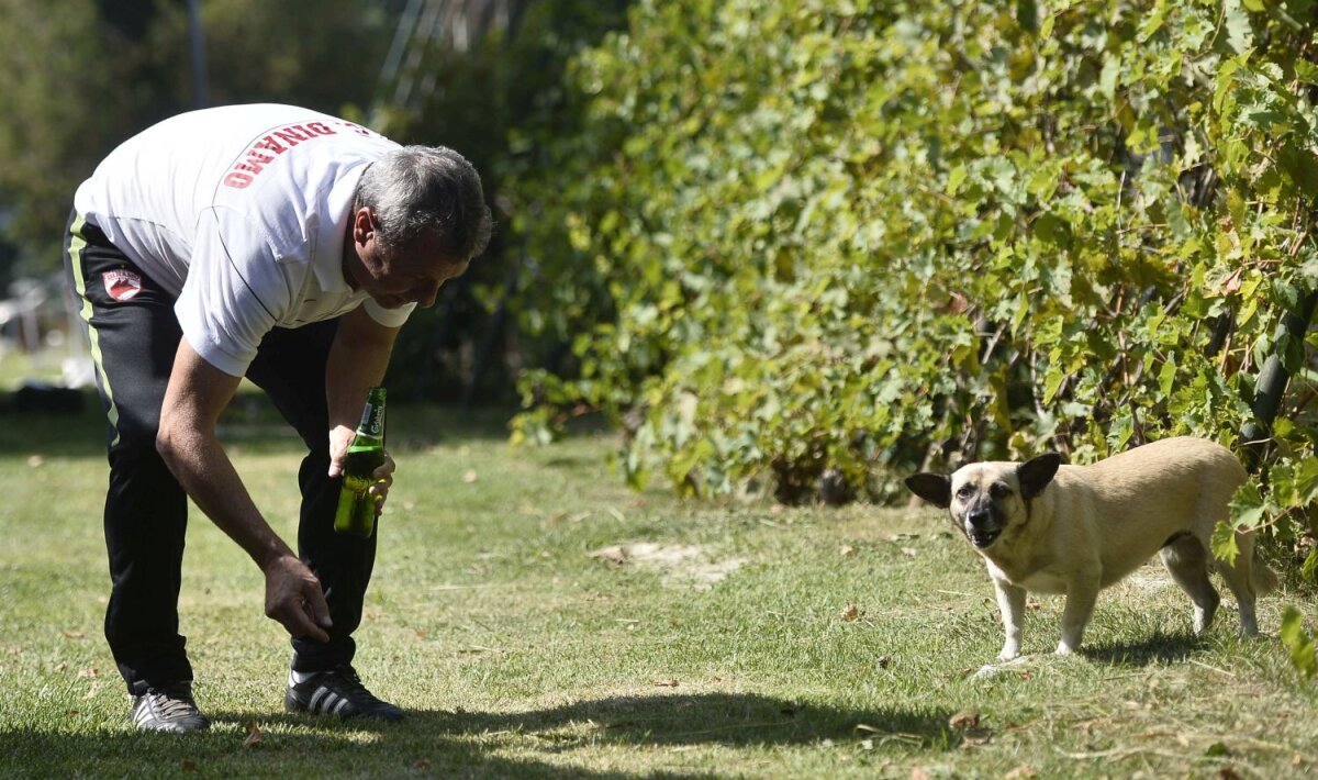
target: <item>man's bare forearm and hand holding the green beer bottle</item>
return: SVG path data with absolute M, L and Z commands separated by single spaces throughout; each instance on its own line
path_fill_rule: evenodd
M 366 403 L 366 390 L 380 385 L 389 366 L 398 328 L 381 325 L 370 319 L 364 307 L 357 307 L 339 318 L 339 332 L 330 347 L 326 364 L 326 402 L 330 404 L 330 476 L 343 474 L 343 455 L 356 436 L 361 422 L 361 408 Z M 372 486 L 372 493 L 384 497 L 393 481 L 394 462 L 386 457 L 376 470 L 384 485 Z

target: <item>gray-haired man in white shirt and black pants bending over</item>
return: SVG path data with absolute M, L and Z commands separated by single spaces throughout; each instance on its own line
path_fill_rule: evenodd
M 352 667 L 376 539 L 335 534 L 337 477 L 399 325 L 489 235 L 461 155 L 291 105 L 169 119 L 78 188 L 65 260 L 109 419 L 105 638 L 138 729 L 208 725 L 178 634 L 188 497 L 265 576 L 293 638 L 286 709 L 402 718 Z M 298 555 L 216 439 L 243 377 L 307 445 Z

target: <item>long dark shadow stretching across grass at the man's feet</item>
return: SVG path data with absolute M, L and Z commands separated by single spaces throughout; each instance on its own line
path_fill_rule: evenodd
M 911 752 L 960 742 L 940 709 L 853 710 L 753 693 L 618 696 L 519 713 L 413 710 L 389 725 L 285 713 L 210 715 L 210 731 L 188 735 L 141 734 L 127 725 L 75 734 L 0 726 L 0 768 L 42 776 L 713 777 L 735 773 L 735 759 L 718 772 L 664 772 L 647 766 L 646 754 L 634 754 L 634 771 L 590 771 L 550 756 L 598 747 L 772 748 L 862 739 Z

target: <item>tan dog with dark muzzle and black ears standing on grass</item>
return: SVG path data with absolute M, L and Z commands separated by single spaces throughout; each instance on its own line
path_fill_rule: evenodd
M 952 513 L 952 520 L 985 559 L 1007 638 L 999 660 L 1020 655 L 1025 593 L 1064 593 L 1057 652 L 1079 650 L 1098 592 L 1139 568 L 1155 552 L 1194 603 L 1194 632 L 1213 622 L 1219 597 L 1209 580 L 1217 568 L 1235 594 L 1240 635 L 1259 632 L 1255 597 L 1277 584 L 1255 560 L 1253 536 L 1236 534 L 1234 565 L 1210 542 L 1246 472 L 1231 451 L 1180 436 L 1136 447 L 1089 466 L 1062 465 L 1046 453 L 1025 462 L 977 462 L 954 473 L 919 473 L 907 488 Z

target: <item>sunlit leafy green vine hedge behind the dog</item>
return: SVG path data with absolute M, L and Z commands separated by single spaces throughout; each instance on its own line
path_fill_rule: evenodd
M 588 121 L 521 171 L 517 437 L 601 408 L 699 494 L 1043 449 L 1236 445 L 1311 289 L 1310 0 L 637 4 L 568 70 Z M 1282 340 L 1285 341 L 1285 340 Z M 1293 393 L 1293 397 L 1301 397 Z M 1318 491 L 1301 406 L 1269 524 Z M 1289 523 L 1281 530 L 1290 534 Z

